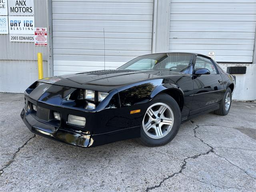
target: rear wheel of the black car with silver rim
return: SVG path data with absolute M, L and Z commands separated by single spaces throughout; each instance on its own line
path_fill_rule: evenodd
M 227 88 L 223 99 L 220 102 L 220 108 L 215 110 L 214 113 L 217 115 L 225 116 L 228 114 L 232 101 L 232 92 L 230 88 Z

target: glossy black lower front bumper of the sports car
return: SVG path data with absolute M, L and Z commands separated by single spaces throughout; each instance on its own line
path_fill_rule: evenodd
M 36 120 L 25 109 L 20 114 L 28 129 L 40 136 L 81 147 L 92 147 L 140 136 L 140 126 L 102 134 L 85 134 L 80 130 L 65 130 Z

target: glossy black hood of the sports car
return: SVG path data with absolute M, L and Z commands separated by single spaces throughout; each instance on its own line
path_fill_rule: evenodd
M 72 88 L 82 88 L 109 92 L 110 90 L 150 79 L 158 79 L 164 76 L 180 76 L 180 72 L 162 70 L 101 70 L 54 76 L 38 80 L 47 84 L 54 84 Z

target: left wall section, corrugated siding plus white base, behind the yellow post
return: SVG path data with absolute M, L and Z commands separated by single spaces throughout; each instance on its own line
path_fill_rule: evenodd
M 48 27 L 47 0 L 34 0 L 34 18 L 36 27 Z M 9 34 L 0 34 L 0 92 L 22 93 L 38 79 L 38 52 L 43 53 L 44 77 L 47 77 L 47 46 L 10 42 Z

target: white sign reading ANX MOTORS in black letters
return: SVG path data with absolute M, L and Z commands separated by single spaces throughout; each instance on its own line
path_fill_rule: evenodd
M 11 16 L 34 16 L 34 0 L 8 0 Z

